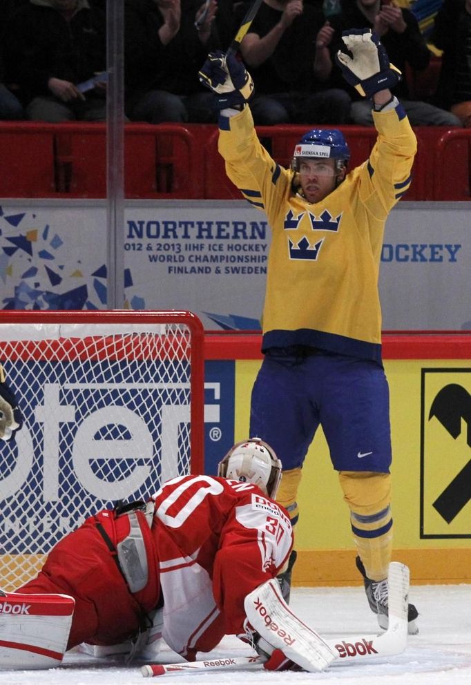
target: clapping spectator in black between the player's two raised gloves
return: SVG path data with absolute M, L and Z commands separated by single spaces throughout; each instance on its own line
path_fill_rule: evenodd
M 240 45 L 255 84 L 256 124 L 349 122 L 349 95 L 329 84 L 332 33 L 320 5 L 263 0 Z

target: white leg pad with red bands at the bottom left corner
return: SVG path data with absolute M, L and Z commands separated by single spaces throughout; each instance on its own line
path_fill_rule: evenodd
M 75 599 L 0 594 L 0 668 L 54 668 L 67 647 Z

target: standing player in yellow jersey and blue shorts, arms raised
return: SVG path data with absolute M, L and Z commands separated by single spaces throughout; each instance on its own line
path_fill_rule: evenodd
M 250 434 L 272 445 L 284 472 L 278 501 L 293 524 L 302 463 L 318 425 L 349 507 L 369 606 L 387 627 L 392 556 L 389 389 L 381 361 L 378 273 L 388 213 L 407 191 L 416 138 L 392 95 L 401 74 L 369 30 L 344 32 L 337 63 L 372 99 L 378 137 L 347 172 L 340 131 L 314 129 L 281 168 L 260 144 L 247 105 L 253 84 L 232 55 L 210 53 L 200 79 L 220 109 L 219 150 L 242 195 L 272 229 L 262 366 Z M 294 561 L 294 558 L 291 561 Z M 289 589 L 289 576 L 285 578 Z M 409 632 L 416 633 L 409 607 Z

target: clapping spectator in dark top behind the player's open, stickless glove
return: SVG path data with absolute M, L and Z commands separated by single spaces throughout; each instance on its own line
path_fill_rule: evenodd
M 410 99 L 406 66 L 414 70 L 424 70 L 430 61 L 430 50 L 419 30 L 416 18 L 405 8 L 399 8 L 391 0 L 342 0 L 340 15 L 331 17 L 329 23 L 335 30 L 331 41 L 331 57 L 340 48 L 342 32 L 351 28 L 371 28 L 394 64 L 403 73 L 402 81 L 394 88 L 394 95 L 401 104 L 412 126 L 461 126 L 452 113 L 428 102 Z M 336 73 L 336 70 L 334 71 Z M 352 94 L 352 119 L 361 126 L 373 126 L 371 103 L 356 93 Z

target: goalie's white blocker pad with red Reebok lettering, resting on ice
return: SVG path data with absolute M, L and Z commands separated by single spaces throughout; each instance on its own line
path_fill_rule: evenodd
M 267 581 L 250 592 L 244 608 L 257 633 L 305 670 L 323 670 L 338 654 L 291 611 L 276 580 Z

